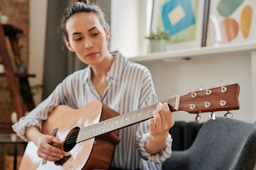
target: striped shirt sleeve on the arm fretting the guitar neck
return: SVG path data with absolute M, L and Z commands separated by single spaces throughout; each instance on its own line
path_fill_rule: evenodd
M 145 83 L 143 83 L 141 103 L 140 107 L 150 106 L 158 102 L 155 87 L 148 71 L 145 76 Z M 151 160 L 154 163 L 162 163 L 165 159 L 169 158 L 172 153 L 172 137 L 168 134 L 166 138 L 166 147 L 164 150 L 158 152 L 157 154 L 151 155 L 145 150 L 146 140 L 150 137 L 148 121 L 140 123 L 138 130 L 136 131 L 136 147 L 140 152 L 141 157 L 144 160 Z

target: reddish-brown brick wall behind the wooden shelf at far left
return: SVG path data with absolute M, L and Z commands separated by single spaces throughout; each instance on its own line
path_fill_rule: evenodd
M 23 30 L 19 38 L 20 57 L 28 66 L 29 58 L 29 0 L 0 0 L 2 15 L 9 17 L 9 24 Z M 28 67 L 27 67 L 28 68 Z M 11 95 L 5 77 L 0 78 L 0 133 L 11 133 L 10 115 L 13 112 Z M 1 169 L 1 168 L 0 168 Z

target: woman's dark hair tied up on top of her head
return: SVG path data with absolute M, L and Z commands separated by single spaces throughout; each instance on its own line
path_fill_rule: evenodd
M 87 13 L 93 12 L 95 15 L 99 17 L 100 23 L 104 30 L 108 30 L 110 28 L 108 22 L 106 22 L 105 20 L 104 13 L 97 5 L 89 4 L 87 0 L 72 0 L 72 6 L 69 7 L 63 13 L 62 19 L 61 19 L 60 29 L 61 29 L 63 40 L 67 40 L 67 41 L 69 40 L 67 31 L 66 31 L 67 20 L 74 14 L 80 13 L 80 12 L 87 12 Z

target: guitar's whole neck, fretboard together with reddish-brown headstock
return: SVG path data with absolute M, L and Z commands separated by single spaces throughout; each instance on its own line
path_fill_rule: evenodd
M 204 112 L 237 110 L 239 109 L 239 91 L 240 86 L 238 84 L 231 84 L 190 92 L 164 102 L 168 103 L 172 112 L 183 110 L 188 113 L 199 114 Z M 153 117 L 153 111 L 156 108 L 157 104 L 154 104 L 84 127 L 80 129 L 76 142 L 143 122 Z

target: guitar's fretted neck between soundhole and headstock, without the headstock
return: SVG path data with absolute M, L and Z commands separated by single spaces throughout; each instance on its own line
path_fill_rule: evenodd
M 176 111 L 175 109 L 173 109 L 175 106 L 174 101 L 175 99 L 169 99 L 167 101 L 164 101 L 168 103 L 169 108 L 172 112 Z M 123 115 L 119 115 L 119 116 L 104 120 L 94 125 L 89 125 L 87 127 L 84 127 L 79 131 L 76 142 L 81 142 L 83 140 L 87 140 L 87 139 L 96 137 L 98 135 L 102 135 L 104 133 L 112 132 L 127 126 L 131 126 L 131 125 L 143 122 L 153 117 L 153 111 L 156 110 L 156 108 L 157 108 L 157 104 L 154 104 L 154 105 L 147 106 Z

